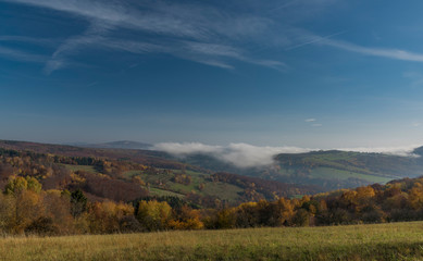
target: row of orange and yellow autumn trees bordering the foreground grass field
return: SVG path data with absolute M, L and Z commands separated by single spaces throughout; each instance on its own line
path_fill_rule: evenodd
M 415 220 L 423 220 L 423 177 L 221 209 L 201 209 L 176 197 L 89 201 L 80 189 L 43 190 L 29 176 L 10 177 L 0 194 L 3 234 L 109 234 Z

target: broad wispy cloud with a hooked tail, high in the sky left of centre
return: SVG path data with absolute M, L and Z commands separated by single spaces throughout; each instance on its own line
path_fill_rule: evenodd
M 232 69 L 238 60 L 272 69 L 284 69 L 279 61 L 252 58 L 244 48 L 234 47 L 245 37 L 260 34 L 271 23 L 266 18 L 225 13 L 207 4 L 166 3 L 164 1 L 129 3 L 123 1 L 86 0 L 5 0 L 13 3 L 65 12 L 91 23 L 79 36 L 66 39 L 46 65 L 51 73 L 66 66 L 67 60 L 87 47 L 102 47 L 135 53 L 165 52 L 212 66 Z M 125 28 L 155 42 L 137 42 L 135 39 L 116 38 L 115 28 Z

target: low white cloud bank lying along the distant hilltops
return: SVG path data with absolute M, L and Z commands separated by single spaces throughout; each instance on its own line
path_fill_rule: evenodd
M 377 148 L 339 148 L 341 151 L 375 152 L 394 154 L 400 157 L 418 157 L 412 153 L 418 146 L 403 147 L 377 147 Z M 175 157 L 187 157 L 189 154 L 208 154 L 215 159 L 228 162 L 238 167 L 266 166 L 274 163 L 274 156 L 278 153 L 303 153 L 316 151 L 299 147 L 270 147 L 253 146 L 249 144 L 229 144 L 227 146 L 204 145 L 201 142 L 161 142 L 151 147 L 152 150 L 160 150 Z

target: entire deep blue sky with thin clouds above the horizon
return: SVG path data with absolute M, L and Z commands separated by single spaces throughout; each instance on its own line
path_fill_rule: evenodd
M 0 0 L 0 139 L 419 147 L 421 10 L 416 0 Z

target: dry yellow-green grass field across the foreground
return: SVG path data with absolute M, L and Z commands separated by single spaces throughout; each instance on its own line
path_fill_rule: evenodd
M 5 237 L 1 260 L 423 260 L 423 222 Z

